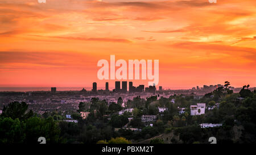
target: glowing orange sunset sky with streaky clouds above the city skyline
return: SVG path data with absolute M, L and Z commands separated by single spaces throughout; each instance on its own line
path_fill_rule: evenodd
M 256 1 L 0 0 L 1 87 L 104 87 L 110 55 L 159 60 L 164 88 L 256 86 Z

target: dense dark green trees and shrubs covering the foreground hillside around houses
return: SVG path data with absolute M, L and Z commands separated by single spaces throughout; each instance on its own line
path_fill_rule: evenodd
M 0 143 L 38 143 L 38 137 L 46 137 L 47 143 L 138 143 L 152 137 L 173 133 L 171 143 L 209 143 L 214 136 L 218 143 L 255 143 L 256 136 L 256 90 L 243 86 L 240 93 L 229 89 L 229 82 L 218 87 L 201 99 L 193 95 L 172 95 L 170 98 L 152 96 L 145 99 L 136 97 L 126 103 L 123 110 L 122 98 L 118 103 L 92 98 L 90 103 L 80 103 L 79 110 L 73 111 L 72 119 L 78 123 L 64 122 L 67 112 L 46 112 L 43 115 L 28 111 L 24 102 L 12 102 L 3 108 L 0 116 Z M 171 100 L 175 99 L 175 103 Z M 213 110 L 204 115 L 191 116 L 189 106 L 206 103 Z M 216 103 L 220 103 L 216 106 Z M 159 114 L 158 107 L 167 111 Z M 185 107 L 179 114 L 178 107 Z M 86 119 L 79 112 L 90 112 Z M 70 112 L 69 112 L 70 114 Z M 142 115 L 156 115 L 157 120 L 143 123 Z M 133 118 L 129 121 L 129 118 Z M 200 128 L 200 123 L 221 123 L 222 127 Z M 127 127 L 126 127 L 127 126 Z M 126 127 L 126 128 L 123 128 Z M 132 131 L 137 128 L 140 131 Z M 178 138 L 177 138 L 178 137 Z M 164 139 L 152 139 L 150 143 L 164 143 Z

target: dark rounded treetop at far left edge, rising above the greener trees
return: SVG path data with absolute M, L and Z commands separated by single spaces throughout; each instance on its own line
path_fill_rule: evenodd
M 10 104 L 8 104 L 7 107 L 3 106 L 3 111 L 2 111 L 2 117 L 5 118 L 12 118 L 12 119 L 16 119 L 18 118 L 19 120 L 24 120 L 24 119 L 28 119 L 31 118 L 34 113 L 32 110 L 27 111 L 28 108 L 28 104 L 26 104 L 25 102 L 11 102 Z

